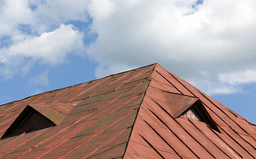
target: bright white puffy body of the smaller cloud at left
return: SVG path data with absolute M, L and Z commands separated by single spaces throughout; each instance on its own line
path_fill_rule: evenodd
M 80 53 L 84 48 L 83 34 L 72 25 L 60 25 L 52 32 L 28 36 L 8 49 L 9 56 L 21 54 L 48 64 L 62 64 L 69 52 Z

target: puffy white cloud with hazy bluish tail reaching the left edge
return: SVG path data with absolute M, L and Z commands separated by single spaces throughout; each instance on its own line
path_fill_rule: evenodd
M 83 54 L 84 34 L 73 25 L 60 25 L 52 32 L 40 36 L 27 36 L 21 32 L 13 33 L 13 45 L 0 50 L 0 73 L 11 78 L 17 72 L 27 74 L 35 62 L 41 64 L 62 64 L 68 53 Z

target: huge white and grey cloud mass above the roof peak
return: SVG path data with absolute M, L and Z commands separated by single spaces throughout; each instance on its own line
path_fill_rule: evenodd
M 101 6 L 92 3 L 96 9 L 89 10 L 89 14 L 98 37 L 88 54 L 100 64 L 97 76 L 99 70 L 104 74 L 104 68 L 114 73 L 120 68 L 159 62 L 210 94 L 240 91 L 235 85 L 251 80 L 229 85 L 219 76 L 255 68 L 256 2 L 196 3 L 111 1 L 105 6 L 105 17 L 101 16 Z

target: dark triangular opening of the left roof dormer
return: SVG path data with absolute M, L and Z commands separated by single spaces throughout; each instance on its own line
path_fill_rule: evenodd
M 5 131 L 1 139 L 54 126 L 56 125 L 50 119 L 44 117 L 44 115 L 28 105 Z

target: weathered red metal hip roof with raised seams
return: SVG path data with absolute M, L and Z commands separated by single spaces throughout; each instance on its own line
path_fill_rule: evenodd
M 255 125 L 159 64 L 1 105 L 0 136 L 26 107 L 56 126 L 2 138 L 0 158 L 256 158 Z

